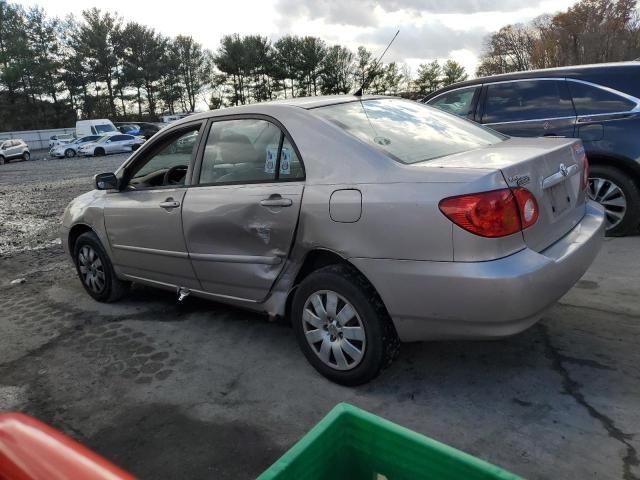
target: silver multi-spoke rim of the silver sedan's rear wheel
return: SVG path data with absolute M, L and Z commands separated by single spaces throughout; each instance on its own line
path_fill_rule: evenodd
M 336 370 L 351 370 L 366 349 L 364 324 L 356 309 L 331 290 L 312 293 L 304 304 L 305 338 L 318 358 Z

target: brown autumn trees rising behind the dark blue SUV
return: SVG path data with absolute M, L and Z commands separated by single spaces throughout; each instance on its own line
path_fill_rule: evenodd
M 478 76 L 640 57 L 636 0 L 580 0 L 567 11 L 489 35 Z

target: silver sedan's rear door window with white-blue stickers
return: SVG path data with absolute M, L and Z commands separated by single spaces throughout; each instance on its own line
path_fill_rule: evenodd
M 282 131 L 266 120 L 223 120 L 211 125 L 200 184 L 274 182 L 304 177 Z

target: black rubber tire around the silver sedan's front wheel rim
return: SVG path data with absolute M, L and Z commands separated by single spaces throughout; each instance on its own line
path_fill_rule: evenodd
M 92 289 L 87 284 L 84 274 L 81 272 L 81 252 L 83 252 L 84 247 L 92 249 L 100 259 L 100 262 L 102 264 L 102 272 L 104 273 L 104 286 L 98 291 Z M 130 283 L 122 281 L 116 276 L 115 271 L 113 270 L 113 265 L 111 264 L 111 260 L 109 259 L 109 256 L 105 252 L 102 243 L 95 233 L 86 232 L 78 237 L 73 248 L 73 262 L 76 265 L 76 271 L 78 273 L 80 283 L 82 283 L 82 286 L 87 291 L 87 293 L 91 295 L 95 300 L 107 303 L 115 302 L 122 298 L 122 296 L 127 292 Z

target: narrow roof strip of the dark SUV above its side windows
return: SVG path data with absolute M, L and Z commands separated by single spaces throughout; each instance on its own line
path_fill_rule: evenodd
M 504 82 L 509 80 L 524 80 L 529 78 L 584 78 L 592 76 L 616 75 L 623 70 L 637 70 L 640 74 L 640 62 L 613 62 L 613 63 L 596 63 L 590 65 L 571 65 L 568 67 L 543 68 L 538 70 L 527 70 L 524 72 L 501 73 L 499 75 L 489 75 L 487 77 L 478 77 L 464 82 L 453 83 L 444 88 L 436 90 L 424 97 L 423 100 L 429 100 L 449 90 L 455 90 L 462 87 L 472 87 L 483 83 Z

